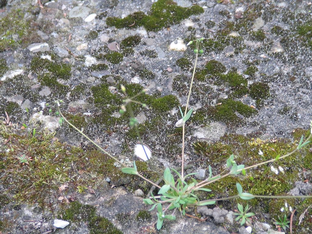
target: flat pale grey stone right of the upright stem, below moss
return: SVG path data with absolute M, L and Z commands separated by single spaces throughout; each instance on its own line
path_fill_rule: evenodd
M 195 128 L 193 136 L 197 137 L 200 140 L 207 142 L 214 142 L 219 140 L 227 131 L 227 125 L 214 122 L 203 128 Z

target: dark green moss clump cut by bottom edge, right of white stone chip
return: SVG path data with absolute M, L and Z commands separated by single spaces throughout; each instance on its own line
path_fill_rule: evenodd
M 90 234 L 122 234 L 107 218 L 95 216 L 88 223 Z

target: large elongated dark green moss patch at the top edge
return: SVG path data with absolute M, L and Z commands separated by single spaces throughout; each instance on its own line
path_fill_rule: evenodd
M 133 28 L 144 26 L 147 31 L 157 32 L 163 27 L 170 27 L 177 24 L 191 15 L 201 14 L 202 7 L 193 5 L 192 7 L 180 7 L 174 1 L 161 0 L 154 2 L 148 15 L 144 12 L 134 12 L 124 17 L 107 17 L 106 24 L 116 28 Z

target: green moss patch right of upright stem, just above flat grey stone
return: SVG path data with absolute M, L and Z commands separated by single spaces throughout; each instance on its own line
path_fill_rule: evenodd
M 208 118 L 214 121 L 221 121 L 227 125 L 237 125 L 241 123 L 242 119 L 237 117 L 235 112 L 248 118 L 255 115 L 258 111 L 243 104 L 240 101 L 234 101 L 232 99 L 219 100 L 221 105 L 210 107 L 207 110 Z

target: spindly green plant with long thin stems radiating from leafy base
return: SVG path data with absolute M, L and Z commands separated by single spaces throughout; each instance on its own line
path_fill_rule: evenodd
M 190 174 L 184 176 L 184 169 L 185 169 L 184 168 L 185 123 L 188 121 L 188 119 L 190 118 L 190 116 L 192 115 L 192 112 L 193 112 L 193 109 L 188 110 L 188 105 L 189 105 L 190 95 L 192 92 L 193 80 L 194 80 L 196 66 L 197 66 L 197 59 L 198 59 L 199 55 L 203 54 L 203 50 L 201 47 L 201 43 L 203 40 L 204 40 L 204 38 L 200 38 L 200 39 L 196 39 L 196 40 L 188 42 L 188 45 L 191 45 L 193 43 L 195 44 L 195 49 L 194 49 L 195 62 L 194 62 L 193 75 L 192 75 L 191 84 L 190 84 L 189 91 L 188 91 L 188 98 L 187 98 L 187 102 L 185 105 L 184 113 L 180 108 L 180 112 L 181 112 L 181 116 L 182 116 L 182 124 L 183 124 L 182 125 L 182 150 L 181 150 L 182 151 L 181 152 L 182 163 L 181 163 L 181 168 L 180 168 L 181 174 L 178 172 L 178 170 L 175 170 L 173 168 L 165 168 L 164 173 L 163 173 L 163 178 L 161 178 L 160 180 L 158 180 L 158 182 L 155 182 L 155 183 L 150 181 L 149 179 L 145 178 L 143 175 L 141 175 L 138 172 L 135 161 L 133 161 L 133 167 L 127 167 L 124 163 L 120 162 L 117 158 L 113 157 L 107 151 L 102 149 L 98 144 L 96 144 L 89 137 L 87 137 L 81 130 L 79 130 L 73 124 L 71 124 L 64 117 L 64 115 L 61 113 L 60 103 L 62 103 L 63 101 L 62 100 L 55 101 L 56 110 L 57 110 L 56 115 L 61 117 L 59 120 L 60 124 L 62 124 L 63 122 L 66 122 L 71 127 L 76 129 L 77 132 L 79 132 L 81 135 L 83 135 L 87 140 L 89 140 L 92 144 L 94 144 L 104 154 L 108 155 L 110 158 L 114 159 L 116 162 L 118 162 L 120 165 L 122 165 L 123 168 L 121 169 L 121 171 L 123 173 L 137 175 L 140 178 L 147 181 L 148 183 L 150 183 L 151 185 L 153 185 L 155 188 L 158 188 L 158 196 L 154 196 L 152 193 L 152 189 L 151 189 L 151 191 L 150 191 L 151 197 L 147 197 L 146 199 L 143 200 L 145 204 L 152 205 L 152 207 L 149 211 L 153 210 L 157 206 L 157 217 L 158 217 L 157 229 L 158 230 L 161 229 L 161 227 L 163 226 L 163 221 L 165 219 L 175 220 L 175 212 L 176 211 L 181 212 L 182 215 L 185 215 L 187 210 L 188 210 L 188 207 L 213 205 L 217 201 L 229 200 L 229 199 L 234 199 L 234 198 L 241 198 L 243 200 L 250 200 L 250 199 L 255 198 L 255 197 L 284 198 L 284 199 L 285 198 L 312 197 L 312 196 L 264 196 L 264 195 L 255 195 L 255 194 L 243 192 L 243 188 L 240 185 L 240 183 L 236 183 L 236 188 L 237 188 L 238 194 L 236 194 L 234 196 L 222 197 L 222 198 L 210 199 L 210 200 L 204 200 L 204 201 L 201 201 L 197 197 L 195 192 L 200 191 L 200 190 L 205 191 L 205 192 L 211 192 L 210 189 L 205 188 L 205 187 L 211 183 L 214 183 L 214 182 L 222 179 L 222 178 L 225 178 L 229 175 L 237 175 L 240 173 L 242 173 L 244 176 L 246 176 L 246 171 L 251 169 L 251 168 L 256 168 L 256 167 L 259 167 L 261 165 L 268 164 L 268 163 L 277 163 L 278 160 L 289 157 L 290 155 L 296 153 L 298 150 L 300 150 L 305 145 L 309 144 L 310 139 L 312 137 L 312 121 L 311 121 L 311 124 L 310 124 L 311 125 L 311 134 L 309 135 L 309 137 L 306 138 L 305 141 L 303 141 L 304 136 L 302 136 L 298 147 L 288 154 L 285 154 L 283 156 L 278 155 L 271 160 L 256 163 L 256 164 L 248 166 L 248 167 L 245 167 L 245 165 L 237 165 L 236 161 L 234 160 L 235 156 L 234 156 L 234 154 L 232 154 L 227 159 L 226 167 L 224 168 L 224 170 L 222 170 L 222 172 L 217 174 L 217 175 L 214 175 L 214 176 L 212 175 L 212 168 L 209 165 L 209 167 L 208 167 L 209 168 L 209 176 L 199 183 L 192 177 L 196 173 L 190 173 Z M 137 104 L 141 105 L 142 107 L 149 109 L 149 107 L 146 104 L 134 100 L 138 95 L 143 94 L 146 90 L 142 90 L 140 93 L 134 95 L 133 97 L 128 97 L 128 95 L 126 93 L 126 88 L 123 85 L 121 85 L 121 90 L 124 93 L 125 98 L 123 100 L 123 105 L 121 105 L 119 113 L 123 114 L 125 111 L 129 112 L 130 127 L 135 129 L 135 131 L 138 135 L 138 138 L 139 138 L 139 142 L 142 145 L 143 151 L 146 155 L 146 158 L 149 159 L 149 157 L 147 156 L 147 153 L 145 151 L 144 144 L 142 143 L 142 139 L 141 139 L 140 134 L 139 134 L 139 130 L 138 130 L 138 126 L 137 126 L 138 120 L 134 117 L 134 113 L 133 113 L 132 106 L 131 106 L 132 103 L 137 103 Z M 260 152 L 261 152 L 261 154 L 263 154 L 261 150 L 259 151 L 259 154 L 260 154 Z M 188 180 L 186 181 L 187 178 L 188 178 Z M 160 187 L 159 183 L 162 180 L 164 181 L 164 185 L 162 187 Z M 238 209 L 241 213 L 237 213 L 238 217 L 236 219 L 237 220 L 241 219 L 241 225 L 246 223 L 246 222 L 251 222 L 251 219 L 249 217 L 253 216 L 254 213 L 248 212 L 249 211 L 248 205 L 245 207 L 245 209 L 243 209 L 243 206 L 238 204 Z M 171 211 L 171 210 L 173 210 L 173 212 L 171 214 L 166 214 L 168 211 Z M 287 227 L 286 220 L 284 222 L 284 225 L 285 225 L 285 227 Z

